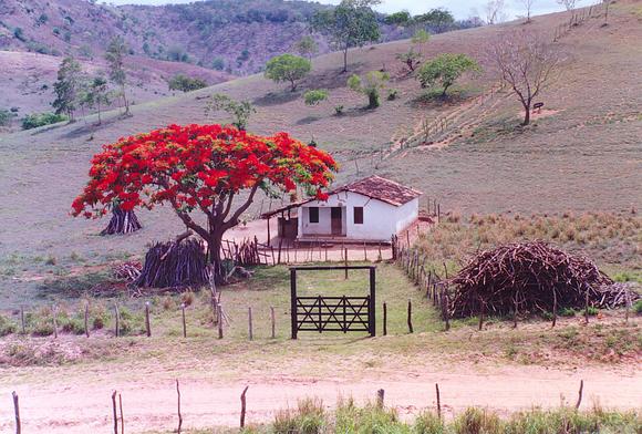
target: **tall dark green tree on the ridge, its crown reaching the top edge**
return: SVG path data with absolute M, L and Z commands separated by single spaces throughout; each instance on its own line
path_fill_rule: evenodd
M 348 50 L 380 40 L 379 22 L 372 10 L 380 3 L 381 0 L 342 0 L 336 8 L 312 17 L 312 29 L 330 37 L 332 44 L 343 51 L 343 72 L 348 72 Z

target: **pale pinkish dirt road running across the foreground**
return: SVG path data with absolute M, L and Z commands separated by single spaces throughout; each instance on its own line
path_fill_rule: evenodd
M 21 397 L 23 431 L 29 433 L 106 433 L 112 426 L 111 393 L 123 395 L 127 432 L 169 431 L 175 427 L 176 391 L 174 379 L 180 380 L 184 428 L 236 426 L 239 394 L 248 391 L 248 420 L 267 422 L 279 409 L 293 406 L 298 399 L 318 396 L 334 406 L 340 396 L 360 402 L 372 399 L 377 389 L 385 390 L 386 404 L 398 409 L 402 416 L 415 414 L 435 404 L 434 384 L 439 383 L 445 412 L 459 412 L 468 405 L 488 406 L 501 413 L 531 405 L 555 406 L 561 396 L 574 404 L 580 379 L 584 380 L 587 409 L 593 402 L 605 407 L 634 409 L 642 403 L 642 375 L 634 366 L 621 371 L 596 368 L 552 370 L 538 366 L 478 368 L 454 366 L 451 371 L 416 366 L 413 372 L 389 368 L 366 376 L 290 378 L 284 375 L 248 375 L 248 381 L 217 380 L 215 365 L 197 372 L 143 368 L 139 372 L 102 372 L 84 368 L 35 370 L 24 376 L 15 370 L 0 371 L 0 432 L 12 431 L 13 410 L 10 394 Z

